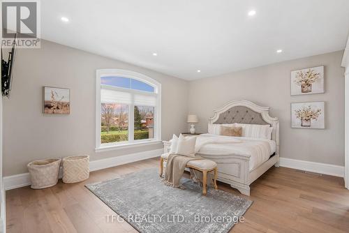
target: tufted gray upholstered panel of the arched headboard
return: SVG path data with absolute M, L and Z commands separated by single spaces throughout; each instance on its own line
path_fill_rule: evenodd
M 262 118 L 262 114 L 255 112 L 246 106 L 230 107 L 225 112 L 221 112 L 218 119 L 213 123 L 253 123 L 258 125 L 270 124 Z

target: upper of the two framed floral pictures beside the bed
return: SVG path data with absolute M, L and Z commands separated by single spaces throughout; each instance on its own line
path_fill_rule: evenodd
M 291 96 L 324 93 L 324 66 L 291 71 Z

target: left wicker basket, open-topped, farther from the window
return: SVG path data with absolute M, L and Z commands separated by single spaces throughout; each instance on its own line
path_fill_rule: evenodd
M 59 158 L 36 160 L 28 163 L 31 188 L 38 189 L 54 186 L 58 182 L 60 166 L 61 159 Z

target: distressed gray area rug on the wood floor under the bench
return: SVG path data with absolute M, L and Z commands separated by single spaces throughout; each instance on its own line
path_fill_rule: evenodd
M 144 233 L 229 232 L 252 204 L 214 188 L 205 197 L 190 179 L 181 183 L 186 189 L 165 186 L 156 169 L 147 169 L 86 187 Z

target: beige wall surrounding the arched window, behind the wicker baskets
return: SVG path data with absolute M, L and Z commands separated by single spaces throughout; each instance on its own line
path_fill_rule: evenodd
M 3 99 L 5 176 L 27 172 L 27 163 L 41 158 L 87 153 L 96 160 L 162 147 L 95 153 L 96 69 L 102 68 L 133 70 L 160 82 L 163 139 L 186 129 L 186 81 L 44 40 L 40 50 L 17 50 L 13 89 Z M 70 115 L 42 114 L 43 86 L 70 89 Z

